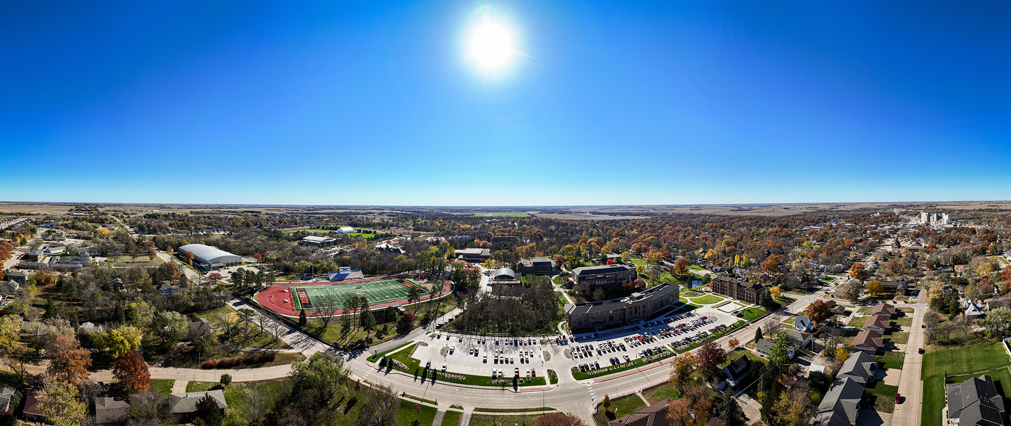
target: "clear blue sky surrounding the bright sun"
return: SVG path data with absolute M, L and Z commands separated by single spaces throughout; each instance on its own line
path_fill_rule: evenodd
M 0 7 L 0 200 L 1011 199 L 1008 2 Z

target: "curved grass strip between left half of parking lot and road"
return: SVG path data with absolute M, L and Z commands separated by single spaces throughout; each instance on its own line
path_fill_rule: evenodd
M 460 372 L 441 371 L 436 368 L 424 367 L 421 365 L 422 361 L 420 359 L 410 356 L 418 344 L 421 344 L 421 342 L 409 342 L 400 347 L 373 355 L 373 357 L 380 358 L 379 366 L 415 375 L 420 377 L 422 381 L 431 380 L 433 382 L 499 388 L 512 386 L 526 387 L 547 385 L 547 381 L 544 380 L 544 377 L 514 378 L 513 374 L 515 372 L 515 369 L 511 370 L 508 368 L 501 368 L 504 377 L 492 378 L 490 376 L 464 375 Z M 370 357 L 369 360 L 372 360 L 372 357 Z M 547 374 L 547 371 L 542 371 L 542 375 L 544 374 Z M 515 382 L 514 379 L 516 379 Z

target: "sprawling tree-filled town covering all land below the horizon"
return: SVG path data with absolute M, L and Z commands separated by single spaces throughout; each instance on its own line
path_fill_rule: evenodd
M 1007 208 L 144 207 L 0 204 L 5 422 L 1007 421 Z

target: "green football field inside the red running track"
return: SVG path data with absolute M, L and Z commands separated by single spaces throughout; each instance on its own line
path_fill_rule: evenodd
M 413 283 L 411 282 L 410 284 Z M 421 296 L 429 293 L 422 286 L 418 286 L 418 289 Z M 304 303 L 303 301 L 303 292 L 304 296 L 308 298 L 308 303 Z M 381 305 L 407 300 L 408 293 L 410 293 L 410 289 L 397 280 L 291 288 L 296 308 L 305 309 L 306 311 L 316 311 L 324 308 L 341 309 L 344 300 L 351 295 L 364 295 L 369 298 L 371 305 Z

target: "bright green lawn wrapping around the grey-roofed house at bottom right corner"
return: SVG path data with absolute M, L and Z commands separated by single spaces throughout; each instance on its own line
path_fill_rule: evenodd
M 925 353 L 923 363 L 920 366 L 920 375 L 923 380 L 923 419 L 921 423 L 924 425 L 942 423 L 941 410 L 944 408 L 945 374 L 961 376 L 993 370 L 1011 364 L 1008 361 L 1007 352 L 1004 351 L 1001 344 Z

